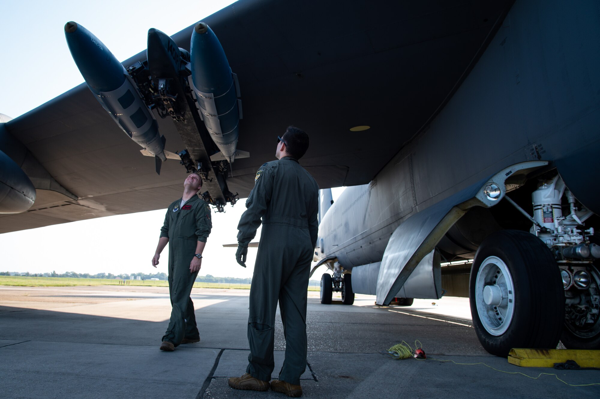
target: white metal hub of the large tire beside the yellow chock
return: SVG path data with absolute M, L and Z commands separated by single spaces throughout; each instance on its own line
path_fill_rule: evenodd
M 481 263 L 475 282 L 475 304 L 479 320 L 491 335 L 506 333 L 515 309 L 515 289 L 505 262 L 488 256 Z

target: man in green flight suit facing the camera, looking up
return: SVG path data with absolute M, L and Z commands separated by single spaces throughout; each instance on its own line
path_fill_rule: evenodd
M 184 194 L 167 209 L 152 258 L 152 266 L 156 267 L 160 253 L 169 243 L 169 295 L 173 309 L 161 350 L 172 351 L 179 344 L 200 341 L 190 293 L 212 228 L 211 208 L 197 195 L 201 187 L 198 174 L 192 173 L 185 179 Z

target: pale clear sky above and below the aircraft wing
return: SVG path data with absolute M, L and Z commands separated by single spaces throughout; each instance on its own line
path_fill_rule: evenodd
M 0 14 L 0 113 L 17 117 L 83 82 L 65 41 L 68 21 L 85 26 L 124 61 L 145 50 L 149 28 L 172 35 L 232 2 L 4 2 Z M 334 200 L 342 191 L 334 189 Z M 249 249 L 248 267 L 244 269 L 235 262 L 235 248 L 223 248 L 223 244 L 236 242 L 244 202 L 227 205 L 226 213 L 213 213 L 213 230 L 200 275 L 252 276 L 256 249 Z M 0 234 L 0 271 L 167 273 L 168 249 L 163 251 L 157 269 L 151 265 L 164 213 L 157 210 L 101 217 Z M 319 279 L 320 271 L 315 276 Z

